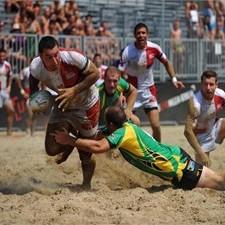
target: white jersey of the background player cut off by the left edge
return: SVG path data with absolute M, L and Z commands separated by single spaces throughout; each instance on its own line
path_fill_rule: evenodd
M 0 64 L 0 90 L 5 90 L 8 86 L 9 78 L 12 76 L 12 69 L 9 62 Z

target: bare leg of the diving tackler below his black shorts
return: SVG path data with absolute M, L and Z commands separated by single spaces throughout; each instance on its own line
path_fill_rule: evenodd
M 216 173 L 204 166 L 196 187 L 225 191 L 225 172 Z

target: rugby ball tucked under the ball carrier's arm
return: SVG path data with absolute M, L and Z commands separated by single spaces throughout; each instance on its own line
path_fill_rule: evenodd
M 53 96 L 46 90 L 39 90 L 29 98 L 29 105 L 34 113 L 44 113 L 53 106 Z

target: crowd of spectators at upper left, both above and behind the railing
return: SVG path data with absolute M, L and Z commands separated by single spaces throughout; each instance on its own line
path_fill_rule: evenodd
M 93 58 L 96 52 L 101 52 L 106 64 L 112 62 L 114 58 L 118 58 L 120 46 L 110 31 L 108 22 L 101 21 L 96 26 L 93 23 L 92 15 L 88 13 L 85 15 L 83 12 L 81 16 L 75 0 L 54 0 L 50 4 L 46 4 L 43 0 L 5 0 L 5 12 L 13 15 L 10 33 L 14 34 L 15 37 L 13 39 L 9 37 L 10 40 L 4 37 L 2 47 L 8 49 L 10 57 L 13 58 L 15 58 L 15 50 L 20 53 L 20 57 L 28 54 L 29 57 L 23 61 L 23 66 L 26 65 L 30 57 L 35 55 L 33 54 L 35 49 L 32 47 L 35 44 L 32 42 L 32 37 L 23 38 L 21 42 L 22 38 L 18 37 L 17 34 L 60 35 L 59 42 L 62 46 L 78 49 L 81 48 L 79 37 L 85 36 L 89 37 L 85 41 L 85 53 L 90 58 Z M 18 49 L 19 47 L 21 47 L 22 52 Z M 15 61 L 15 64 L 18 64 L 17 58 L 10 61 Z

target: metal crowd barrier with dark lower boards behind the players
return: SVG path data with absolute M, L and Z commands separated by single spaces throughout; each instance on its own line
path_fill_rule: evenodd
M 40 38 L 41 36 L 31 34 L 0 34 L 0 48 L 4 47 L 7 50 L 8 61 L 12 65 L 15 76 L 29 65 L 33 57 L 38 55 Z M 90 59 L 93 58 L 96 52 L 100 52 L 105 65 L 115 65 L 120 58 L 121 49 L 133 41 L 132 38 L 75 37 L 67 35 L 57 36 L 57 39 L 62 47 L 78 48 L 86 53 Z M 200 76 L 204 70 L 215 70 L 219 75 L 221 87 L 225 88 L 223 84 L 225 81 L 225 45 L 220 41 L 183 39 L 181 43 L 182 51 L 175 51 L 176 48 L 173 47 L 170 39 L 162 40 L 157 38 L 152 39 L 152 41 L 161 46 L 174 64 L 177 76 L 186 85 L 186 88 L 182 91 L 171 86 L 164 66 L 156 60 L 154 77 L 158 86 L 158 98 L 161 104 L 161 121 L 162 123 L 171 121 L 173 123 L 182 123 L 185 115 L 185 102 L 190 97 L 191 90 L 193 91 L 191 87 L 193 85 L 199 86 Z M 11 94 L 16 108 L 14 126 L 25 129 L 25 101 L 20 96 L 16 84 L 13 84 Z M 0 128 L 3 129 L 6 124 L 6 117 L 2 109 L 0 109 L 0 113 Z M 142 111 L 138 110 L 137 114 L 141 117 L 143 123 L 147 121 Z M 39 124 L 40 127 L 43 126 L 42 119 L 40 119 Z

